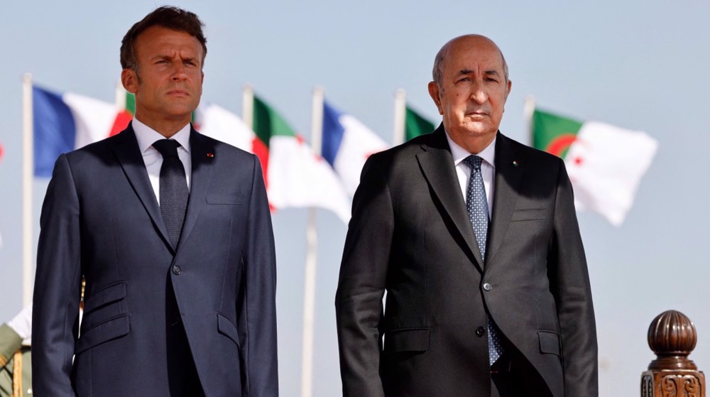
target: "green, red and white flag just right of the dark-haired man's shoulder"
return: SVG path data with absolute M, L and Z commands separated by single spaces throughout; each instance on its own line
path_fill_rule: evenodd
M 283 117 L 256 96 L 253 131 L 253 151 L 261 159 L 272 207 L 322 207 L 349 222 L 350 203 L 330 165 L 315 156 Z

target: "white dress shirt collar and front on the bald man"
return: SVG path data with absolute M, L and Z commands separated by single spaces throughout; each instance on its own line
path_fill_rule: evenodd
M 493 189 L 495 188 L 495 179 L 493 175 L 496 175 L 496 138 L 486 146 L 481 153 L 469 153 L 466 149 L 461 148 L 456 142 L 452 140 L 449 133 L 446 133 L 447 141 L 449 141 L 449 148 L 451 148 L 451 155 L 454 158 L 454 167 L 456 168 L 456 175 L 459 177 L 459 185 L 461 186 L 461 194 L 464 195 L 464 202 L 466 202 L 466 189 L 469 186 L 469 177 L 471 176 L 471 168 L 464 164 L 464 158 L 471 156 L 471 154 L 476 154 L 484 161 L 481 161 L 481 177 L 484 178 L 484 188 L 486 189 L 486 201 L 488 202 L 488 219 L 493 216 Z

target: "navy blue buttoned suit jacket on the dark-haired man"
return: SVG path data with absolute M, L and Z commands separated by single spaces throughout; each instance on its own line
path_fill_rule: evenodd
M 192 128 L 190 156 L 177 251 L 130 125 L 58 158 L 35 276 L 38 396 L 167 396 L 170 285 L 205 395 L 278 395 L 275 254 L 258 158 Z

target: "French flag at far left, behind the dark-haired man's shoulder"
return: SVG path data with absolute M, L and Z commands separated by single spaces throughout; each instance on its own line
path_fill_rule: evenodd
M 32 87 L 35 176 L 50 177 L 62 153 L 100 141 L 125 126 L 116 104 Z M 120 131 L 120 130 L 119 130 Z

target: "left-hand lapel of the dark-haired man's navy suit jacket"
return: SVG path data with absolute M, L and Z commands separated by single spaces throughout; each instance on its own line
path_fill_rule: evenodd
M 148 178 L 148 171 L 146 171 L 146 163 L 143 162 L 143 156 L 136 140 L 136 133 L 133 132 L 133 127 L 131 127 L 130 123 L 124 131 L 121 131 L 121 134 L 116 136 L 114 153 L 116 153 L 116 157 L 121 163 L 121 168 L 123 168 L 126 178 L 131 183 L 136 195 L 138 195 L 138 199 L 141 200 L 143 207 L 151 217 L 155 229 L 158 229 L 163 241 L 172 251 L 168 229 L 165 228 L 163 215 L 160 214 L 160 205 L 158 205 L 158 199 L 155 198 L 155 191 L 153 191 L 151 180 Z

